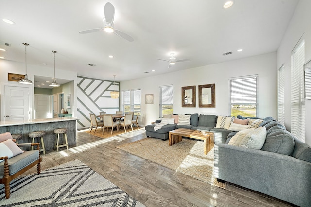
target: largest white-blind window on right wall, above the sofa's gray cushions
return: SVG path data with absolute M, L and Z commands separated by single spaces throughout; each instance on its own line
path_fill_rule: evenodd
M 305 142 L 304 67 L 305 43 L 292 53 L 291 69 L 291 133 Z

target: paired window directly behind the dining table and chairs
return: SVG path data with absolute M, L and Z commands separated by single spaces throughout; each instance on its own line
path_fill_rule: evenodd
M 122 91 L 122 111 L 140 112 L 140 89 Z

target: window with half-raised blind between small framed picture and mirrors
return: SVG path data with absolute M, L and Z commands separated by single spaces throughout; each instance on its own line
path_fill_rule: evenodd
M 160 86 L 159 117 L 173 113 L 173 85 Z

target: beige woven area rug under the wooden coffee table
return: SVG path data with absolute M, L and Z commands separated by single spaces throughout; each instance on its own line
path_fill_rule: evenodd
M 138 157 L 175 170 L 208 184 L 226 189 L 227 183 L 217 182 L 213 176 L 214 150 L 204 155 L 204 142 L 183 139 L 169 146 L 169 141 L 145 138 L 136 142 L 116 146 Z

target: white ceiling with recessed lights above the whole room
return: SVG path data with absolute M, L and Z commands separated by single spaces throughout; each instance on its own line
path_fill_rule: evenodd
M 53 70 L 52 50 L 56 50 L 56 69 L 104 80 L 113 80 L 113 74 L 116 81 L 132 80 L 275 52 L 298 0 L 234 0 L 229 9 L 222 8 L 225 0 L 110 0 L 115 28 L 134 42 L 104 31 L 79 34 L 103 27 L 106 2 L 0 0 L 0 19 L 16 23 L 0 21 L 0 48 L 6 49 L 0 56 L 24 63 L 22 42 L 26 42 L 27 64 Z M 240 48 L 243 51 L 237 52 Z M 229 51 L 232 54 L 223 56 Z M 168 60 L 171 52 L 176 59 L 191 61 L 168 68 L 167 62 L 157 60 Z

